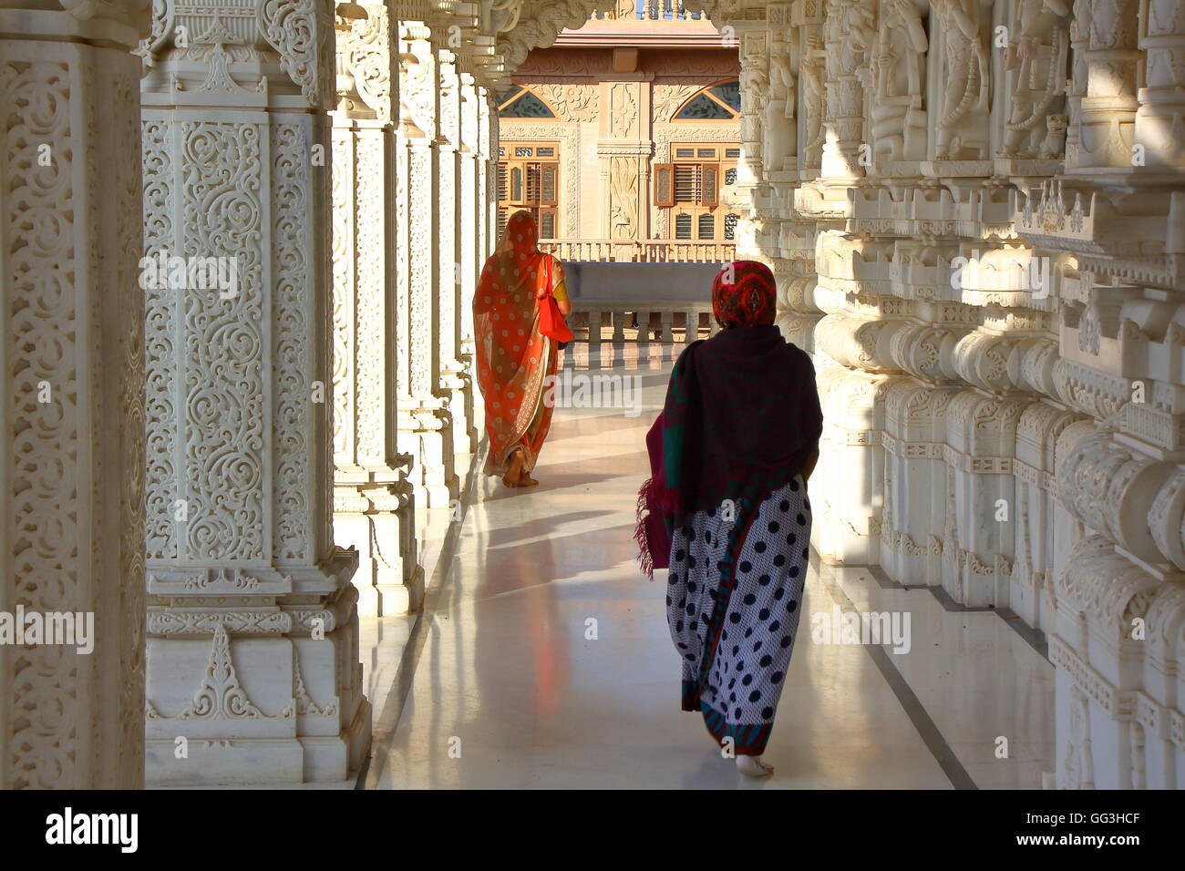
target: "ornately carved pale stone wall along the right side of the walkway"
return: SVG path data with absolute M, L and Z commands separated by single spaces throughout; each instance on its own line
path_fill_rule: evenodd
M 815 546 L 1045 632 L 1059 786 L 1179 787 L 1183 68 L 1154 52 L 1185 21 L 1149 8 L 1141 55 L 1134 5 L 1057 8 L 792 4 Z

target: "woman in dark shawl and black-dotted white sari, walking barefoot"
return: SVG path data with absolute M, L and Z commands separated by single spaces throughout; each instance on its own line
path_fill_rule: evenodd
M 773 770 L 760 757 L 799 625 L 806 482 L 822 433 L 814 367 L 774 326 L 775 299 L 762 263 L 716 276 L 712 309 L 724 329 L 675 363 L 639 494 L 643 569 L 670 569 L 683 709 L 699 712 L 755 776 Z

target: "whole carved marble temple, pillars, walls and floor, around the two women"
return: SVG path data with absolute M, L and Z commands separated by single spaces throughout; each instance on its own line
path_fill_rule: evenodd
M 0 786 L 716 783 L 629 540 L 709 286 L 603 303 L 564 366 L 640 404 L 557 410 L 508 498 L 472 302 L 518 209 L 574 264 L 777 280 L 805 609 L 914 615 L 802 645 L 788 784 L 1185 786 L 1180 0 L 0 23 L 0 615 L 94 621 L 0 635 Z

